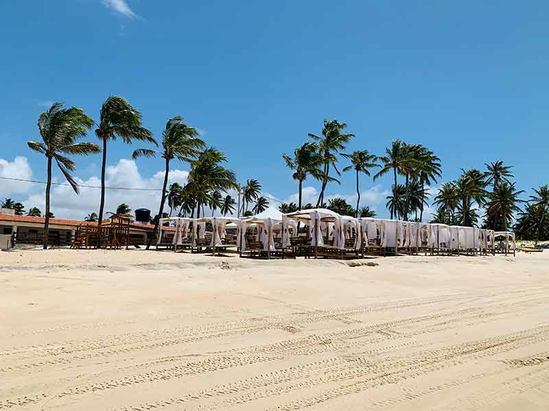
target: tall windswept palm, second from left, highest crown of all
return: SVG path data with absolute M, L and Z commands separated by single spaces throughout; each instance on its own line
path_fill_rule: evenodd
M 103 221 L 105 206 L 105 171 L 107 162 L 107 142 L 121 138 L 126 144 L 133 140 L 148 141 L 157 145 L 151 132 L 141 125 L 141 113 L 123 97 L 110 96 L 103 103 L 100 124 L 95 135 L 103 142 L 103 160 L 101 165 L 101 200 L 99 206 L 99 224 Z

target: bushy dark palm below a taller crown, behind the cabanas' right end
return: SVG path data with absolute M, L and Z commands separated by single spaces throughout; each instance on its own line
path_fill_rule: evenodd
M 509 184 L 506 181 L 498 182 L 493 187 L 493 192 L 488 194 L 487 203 L 487 225 L 495 231 L 507 231 L 513 221 L 513 213 L 520 212 L 517 203 L 524 190 L 517 191 L 515 183 Z

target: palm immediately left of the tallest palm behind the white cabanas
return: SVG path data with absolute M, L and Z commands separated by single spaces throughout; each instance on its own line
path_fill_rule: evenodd
M 307 141 L 304 142 L 301 147 L 294 150 L 293 158 L 288 154 L 283 154 L 282 158 L 285 160 L 286 166 L 288 166 L 290 170 L 294 170 L 292 178 L 299 182 L 299 201 L 297 209 L 301 210 L 303 182 L 307 179 L 307 175 L 310 174 L 316 179 L 323 178 L 323 173 L 320 169 L 322 158 L 318 154 L 318 146 L 314 144 L 314 142 Z

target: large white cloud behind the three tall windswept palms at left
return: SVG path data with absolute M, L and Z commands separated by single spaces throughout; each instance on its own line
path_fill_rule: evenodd
M 185 184 L 189 173 L 185 170 L 170 170 L 168 184 L 178 182 Z M 121 159 L 114 166 L 106 169 L 107 187 L 130 187 L 130 188 L 155 188 L 161 189 L 164 179 L 164 172 L 158 171 L 152 177 L 143 177 L 139 172 L 137 164 L 133 160 Z M 76 179 L 78 184 L 86 186 L 100 186 L 100 177 L 93 176 L 89 179 Z M 23 203 L 25 208 L 38 207 L 45 209 L 44 187 L 40 192 L 34 192 Z M 106 190 L 105 212 L 114 212 L 120 203 L 126 203 L 132 210 L 136 208 L 148 208 L 151 214 L 158 212 L 160 206 L 160 190 Z M 58 218 L 83 219 L 90 212 L 99 210 L 100 189 L 80 188 L 80 195 L 76 195 L 70 186 L 53 186 L 51 188 L 51 211 Z M 165 212 L 169 212 L 167 205 Z

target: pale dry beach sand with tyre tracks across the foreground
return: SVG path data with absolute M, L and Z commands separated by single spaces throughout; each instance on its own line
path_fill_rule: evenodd
M 548 410 L 549 252 L 0 252 L 0 410 Z

